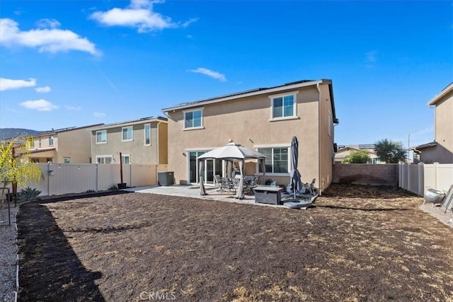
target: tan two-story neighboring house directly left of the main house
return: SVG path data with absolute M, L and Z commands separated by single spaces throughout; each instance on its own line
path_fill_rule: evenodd
M 134 163 L 160 165 L 166 170 L 166 117 L 144 117 L 139 120 L 103 124 L 91 131 L 93 163 Z

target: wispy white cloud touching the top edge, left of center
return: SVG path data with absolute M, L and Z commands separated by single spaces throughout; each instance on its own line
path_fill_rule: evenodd
M 139 33 L 165 28 L 187 27 L 197 21 L 193 18 L 182 23 L 174 23 L 170 17 L 162 16 L 153 10 L 154 4 L 164 1 L 132 0 L 126 8 L 112 8 L 109 11 L 96 11 L 90 18 L 107 26 L 126 26 L 137 28 Z

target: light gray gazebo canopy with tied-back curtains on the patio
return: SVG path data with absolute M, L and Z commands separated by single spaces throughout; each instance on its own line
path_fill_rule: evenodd
M 241 146 L 240 144 L 234 143 L 234 141 L 229 142 L 225 146 L 216 148 L 209 152 L 206 152 L 200 156 L 198 159 L 222 159 L 224 161 L 237 161 L 239 162 L 239 171 L 241 173 L 241 180 L 239 181 L 239 187 L 236 192 L 236 198 L 243 198 L 243 176 L 244 176 L 244 161 L 247 159 L 258 159 L 260 161 L 261 169 L 263 170 L 263 179 L 265 176 L 265 158 L 266 156 L 263 153 L 258 151 L 248 149 L 247 147 Z M 204 171 L 205 161 L 200 162 L 200 194 L 207 195 L 205 190 L 205 185 L 203 185 L 203 171 Z

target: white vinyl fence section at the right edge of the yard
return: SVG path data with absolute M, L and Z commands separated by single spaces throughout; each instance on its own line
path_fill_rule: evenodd
M 453 163 L 399 165 L 399 187 L 423 196 L 427 188 L 447 192 L 453 185 Z

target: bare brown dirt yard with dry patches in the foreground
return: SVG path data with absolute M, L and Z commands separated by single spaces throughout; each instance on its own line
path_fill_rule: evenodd
M 122 193 L 23 204 L 19 301 L 453 301 L 453 228 L 391 187 L 306 210 Z

